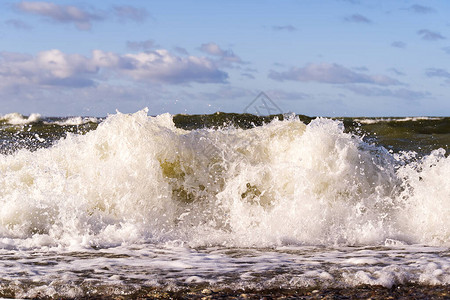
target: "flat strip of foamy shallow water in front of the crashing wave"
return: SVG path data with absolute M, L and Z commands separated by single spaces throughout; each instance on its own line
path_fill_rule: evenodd
M 84 252 L 3 250 L 0 277 L 2 283 L 17 291 L 17 297 L 24 298 L 36 297 L 37 293 L 82 297 L 86 296 L 85 289 L 102 288 L 106 289 L 103 295 L 111 296 L 114 290 L 123 293 L 139 286 L 180 288 L 186 284 L 256 290 L 361 284 L 386 288 L 408 283 L 447 285 L 450 263 L 445 251 L 420 245 L 376 250 L 304 246 L 195 250 L 152 244 Z M 354 257 L 370 263 L 355 264 L 351 260 Z

